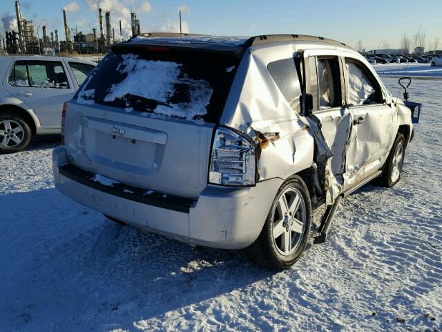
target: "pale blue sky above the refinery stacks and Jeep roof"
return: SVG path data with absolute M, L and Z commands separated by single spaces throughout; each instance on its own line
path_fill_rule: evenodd
M 0 0 L 0 15 L 14 15 L 14 1 Z M 76 2 L 76 3 L 75 3 Z M 398 47 L 403 33 L 413 35 L 422 24 L 426 47 L 434 38 L 442 39 L 442 0 L 316 0 L 316 1 L 143 1 L 143 0 L 22 0 L 22 15 L 46 24 L 48 31 L 57 28 L 62 36 L 61 8 L 70 3 L 68 23 L 84 33 L 97 27 L 96 8 L 110 8 L 117 33 L 118 19 L 128 28 L 132 7 L 141 19 L 142 32 L 177 30 L 177 8 L 183 8 L 184 30 L 211 35 L 261 35 L 298 33 L 338 39 L 364 48 L 377 48 L 384 41 Z M 421 4 L 419 4 L 421 3 Z M 106 8 L 107 7 L 107 8 Z M 4 30 L 4 29 L 3 29 Z M 41 33 L 41 30 L 40 30 Z M 439 42 L 442 48 L 442 40 Z

